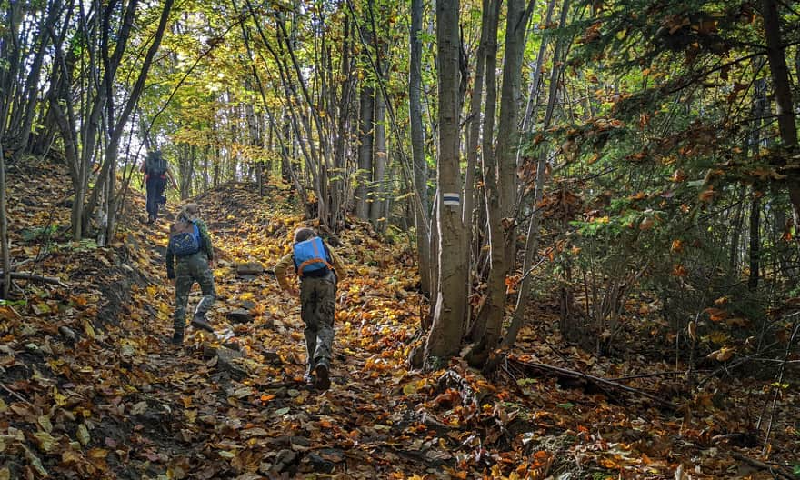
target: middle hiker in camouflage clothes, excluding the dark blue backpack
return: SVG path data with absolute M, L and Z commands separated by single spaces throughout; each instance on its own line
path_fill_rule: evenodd
M 173 344 L 175 345 L 181 345 L 184 341 L 186 305 L 189 303 L 189 292 L 195 282 L 200 285 L 203 298 L 195 308 L 192 326 L 214 332 L 214 328 L 208 324 L 205 318 L 205 314 L 208 313 L 216 299 L 214 274 L 211 271 L 214 263 L 214 247 L 211 245 L 208 227 L 203 220 L 198 218 L 199 213 L 200 209 L 197 204 L 186 204 L 175 222 L 187 220 L 197 225 L 200 232 L 200 250 L 195 254 L 178 256 L 172 252 L 172 245 L 166 249 L 166 276 L 175 280 L 175 314 L 173 315 L 175 328 Z M 170 229 L 171 234 L 173 231 L 175 231 L 175 225 L 172 225 Z M 174 262 L 175 267 L 173 267 Z

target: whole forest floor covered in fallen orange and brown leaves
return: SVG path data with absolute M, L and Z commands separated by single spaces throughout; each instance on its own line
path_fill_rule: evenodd
M 196 198 L 218 253 L 217 338 L 189 328 L 175 347 L 168 219 L 145 225 L 132 192 L 110 245 L 72 242 L 65 168 L 29 160 L 8 177 L 17 271 L 51 280 L 15 279 L 0 305 L 0 480 L 800 478 L 797 385 L 724 376 L 687 390 L 655 322 L 598 357 L 567 345 L 557 304 L 541 301 L 490 377 L 458 362 L 410 370 L 425 311 L 414 255 L 362 224 L 337 247 L 350 276 L 333 385 L 307 388 L 297 299 L 268 271 L 236 269 L 287 251 L 302 219 L 283 187 Z

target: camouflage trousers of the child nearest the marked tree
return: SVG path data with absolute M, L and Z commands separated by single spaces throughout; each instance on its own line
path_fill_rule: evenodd
M 308 367 L 331 363 L 334 345 L 336 280 L 333 273 L 300 282 L 300 318 L 305 323 L 305 352 Z

